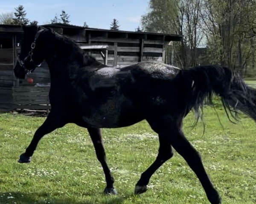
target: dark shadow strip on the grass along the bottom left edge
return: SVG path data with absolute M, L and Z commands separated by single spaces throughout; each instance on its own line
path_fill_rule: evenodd
M 108 196 L 103 195 L 102 196 Z M 92 196 L 93 197 L 93 196 Z M 95 204 L 99 201 L 94 201 L 93 199 L 80 198 L 80 201 L 76 201 L 73 198 L 62 198 L 58 199 L 49 193 L 22 193 L 22 192 L 0 192 L 0 204 Z M 102 204 L 122 204 L 126 198 L 109 195 L 107 201 L 102 201 Z

